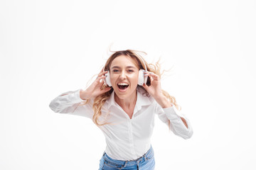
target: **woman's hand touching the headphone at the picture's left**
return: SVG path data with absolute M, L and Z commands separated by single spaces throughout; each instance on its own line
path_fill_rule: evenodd
M 87 89 L 85 89 L 84 91 L 80 91 L 80 98 L 82 98 L 83 100 L 95 98 L 100 94 L 104 94 L 107 91 L 110 91 L 111 88 L 109 86 L 105 87 L 105 89 L 101 89 L 102 85 L 104 84 L 103 79 L 106 78 L 105 74 L 107 72 L 108 71 L 103 72 L 102 69 L 100 71 L 100 74 L 98 74 L 97 79 L 95 79 L 95 81 L 93 81 L 93 83 Z

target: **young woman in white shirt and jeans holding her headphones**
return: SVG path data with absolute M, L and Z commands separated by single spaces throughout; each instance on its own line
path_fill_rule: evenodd
M 83 115 L 102 130 L 107 147 L 100 169 L 154 169 L 150 138 L 154 115 L 175 135 L 193 130 L 173 96 L 161 89 L 159 64 L 147 64 L 134 50 L 114 52 L 85 90 L 68 91 L 50 103 L 56 113 Z

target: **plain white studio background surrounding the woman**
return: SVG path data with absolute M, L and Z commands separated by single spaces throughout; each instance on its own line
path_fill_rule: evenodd
M 112 50 L 171 69 L 163 89 L 191 120 L 189 140 L 156 117 L 156 169 L 255 169 L 256 3 L 0 1 L 0 169 L 98 169 L 105 138 L 50 101 L 85 88 Z

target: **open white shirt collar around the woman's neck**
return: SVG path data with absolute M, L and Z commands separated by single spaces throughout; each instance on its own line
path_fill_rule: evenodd
M 148 97 L 146 96 L 146 94 L 144 94 L 144 90 L 142 90 L 141 88 L 137 88 L 137 101 L 135 108 L 137 108 L 137 110 L 140 110 L 142 106 L 150 105 L 152 103 L 150 98 L 150 96 Z M 107 108 L 109 109 L 112 106 L 118 106 L 118 104 L 114 101 L 114 91 L 112 92 L 110 98 L 107 100 Z

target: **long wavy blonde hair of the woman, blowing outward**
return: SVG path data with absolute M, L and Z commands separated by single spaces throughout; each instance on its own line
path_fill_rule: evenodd
M 111 51 L 112 52 L 112 51 Z M 141 52 L 141 51 L 137 51 L 137 50 L 122 50 L 122 51 L 116 51 L 114 52 L 114 54 L 112 54 L 107 62 L 105 63 L 105 71 L 107 70 L 110 70 L 110 65 L 112 64 L 112 61 L 116 58 L 116 57 L 119 57 L 120 55 L 124 55 L 124 56 L 127 56 L 127 57 L 131 57 L 134 61 L 136 61 L 137 63 L 137 67 L 139 69 L 145 69 L 144 68 L 144 63 L 146 64 L 146 69 L 148 72 L 153 72 L 154 74 L 157 74 L 159 76 L 159 78 L 161 79 L 161 75 L 164 73 L 161 72 L 161 66 L 159 64 L 159 60 L 155 63 L 155 64 L 148 64 L 141 55 L 139 55 L 140 53 L 143 53 L 144 55 L 146 55 L 146 52 Z M 144 60 L 144 61 L 142 61 Z M 146 85 L 150 86 L 150 77 L 147 79 L 146 81 Z M 139 85 L 138 85 L 139 86 Z M 105 84 L 102 85 L 101 89 L 105 89 L 107 86 Z M 139 86 L 139 88 L 142 88 L 144 90 L 144 95 L 146 96 L 149 96 L 149 93 L 146 91 L 146 89 L 144 89 L 143 86 Z M 106 125 L 106 124 L 110 124 L 110 123 L 107 123 L 106 121 L 104 123 L 100 123 L 100 116 L 102 115 L 102 106 L 105 104 L 105 102 L 107 101 L 108 98 L 110 98 L 110 95 L 112 94 L 113 92 L 113 88 L 110 90 L 110 91 L 107 91 L 106 93 L 104 94 L 100 94 L 99 96 L 97 96 L 95 98 L 95 100 L 93 101 L 93 104 L 92 104 L 92 109 L 94 111 L 94 114 L 92 116 L 92 121 L 93 123 L 95 123 L 97 126 L 101 126 L 101 125 Z M 178 104 L 176 103 L 176 99 L 174 98 L 174 96 L 170 96 L 168 92 L 162 90 L 162 93 L 164 94 L 164 96 L 166 96 L 166 98 L 169 99 L 169 101 L 171 103 L 174 104 L 174 106 L 178 109 L 178 110 L 181 110 L 181 107 L 178 106 Z M 87 100 L 85 103 L 82 103 L 81 105 L 84 105 L 86 103 L 88 103 L 90 101 Z M 169 129 L 171 128 L 170 127 L 171 123 L 170 123 L 170 120 L 169 120 Z

